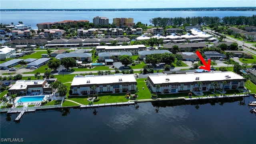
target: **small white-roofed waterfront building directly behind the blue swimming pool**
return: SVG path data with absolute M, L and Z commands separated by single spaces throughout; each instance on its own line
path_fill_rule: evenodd
M 52 94 L 50 83 L 56 82 L 57 78 L 46 80 L 17 80 L 15 84 L 9 88 L 8 93 L 19 95 L 40 95 Z

